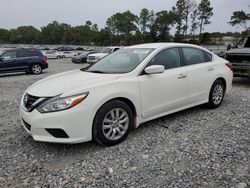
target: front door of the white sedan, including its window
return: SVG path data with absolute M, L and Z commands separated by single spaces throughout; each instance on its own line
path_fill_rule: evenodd
M 187 75 L 178 48 L 159 52 L 147 65 L 163 65 L 161 74 L 139 77 L 143 118 L 151 118 L 187 104 Z

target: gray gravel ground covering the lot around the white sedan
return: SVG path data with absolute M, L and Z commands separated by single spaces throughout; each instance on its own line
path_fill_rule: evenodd
M 250 81 L 236 79 L 222 106 L 145 123 L 119 145 L 35 142 L 21 127 L 21 95 L 77 69 L 51 60 L 41 75 L 0 75 L 0 187 L 250 187 Z

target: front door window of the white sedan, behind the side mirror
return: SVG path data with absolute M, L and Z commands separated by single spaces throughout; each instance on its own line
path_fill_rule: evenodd
M 178 48 L 166 49 L 159 52 L 148 64 L 148 66 L 150 65 L 163 65 L 165 69 L 180 67 L 181 61 Z

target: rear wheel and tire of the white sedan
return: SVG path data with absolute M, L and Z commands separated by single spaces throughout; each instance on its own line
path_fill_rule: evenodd
M 225 85 L 221 80 L 215 80 L 209 92 L 208 107 L 211 109 L 218 108 L 223 101 L 224 95 Z

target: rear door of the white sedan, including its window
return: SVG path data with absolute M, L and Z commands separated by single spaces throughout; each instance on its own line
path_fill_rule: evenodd
M 182 48 L 183 60 L 188 78 L 188 103 L 198 103 L 208 99 L 213 79 L 212 56 L 197 48 Z

